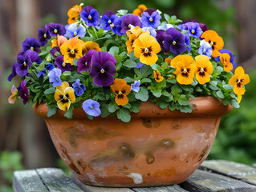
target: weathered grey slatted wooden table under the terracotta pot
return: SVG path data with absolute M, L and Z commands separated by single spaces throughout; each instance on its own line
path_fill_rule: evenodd
M 62 170 L 43 168 L 14 172 L 15 192 L 184 192 L 184 191 L 243 191 L 256 192 L 256 168 L 237 162 L 205 161 L 185 182 L 174 186 L 143 188 L 107 188 L 87 186 L 79 182 L 72 174 L 68 178 Z

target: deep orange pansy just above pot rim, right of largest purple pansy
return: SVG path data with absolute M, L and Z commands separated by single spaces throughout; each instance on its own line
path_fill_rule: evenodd
M 129 99 L 127 95 L 131 91 L 131 86 L 127 85 L 123 79 L 116 78 L 113 84 L 110 86 L 114 94 L 116 94 L 115 102 L 119 106 L 125 106 L 128 104 Z

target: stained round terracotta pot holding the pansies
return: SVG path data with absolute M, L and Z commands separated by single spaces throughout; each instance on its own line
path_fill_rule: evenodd
M 79 180 L 94 186 L 165 186 L 184 182 L 213 146 L 221 117 L 232 110 L 221 100 L 191 100 L 193 112 L 161 110 L 142 102 L 131 122 L 115 117 L 87 119 L 82 107 L 73 119 L 58 110 L 44 118 L 59 156 Z

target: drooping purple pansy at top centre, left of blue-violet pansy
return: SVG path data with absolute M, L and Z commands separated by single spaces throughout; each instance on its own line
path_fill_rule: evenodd
M 125 34 L 135 26 L 141 26 L 140 18 L 134 14 L 128 14 L 121 23 L 121 33 Z

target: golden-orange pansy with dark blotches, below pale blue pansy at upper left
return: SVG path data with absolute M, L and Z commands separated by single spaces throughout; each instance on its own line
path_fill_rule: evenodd
M 60 46 L 60 52 L 64 55 L 64 62 L 71 63 L 73 65 L 73 60 L 75 58 L 82 58 L 82 44 L 77 41 L 78 37 L 71 38 Z

